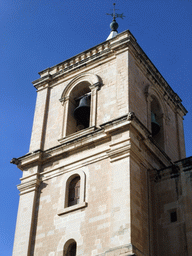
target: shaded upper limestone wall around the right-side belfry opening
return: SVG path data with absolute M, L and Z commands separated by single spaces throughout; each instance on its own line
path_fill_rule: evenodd
M 185 157 L 185 144 L 183 139 L 183 120 L 181 112 L 168 98 L 165 91 L 159 87 L 151 77 L 142 70 L 141 65 L 129 54 L 129 109 L 151 131 L 151 97 L 155 95 L 162 108 L 163 145 L 157 143 L 171 158 L 176 161 Z M 155 139 L 156 140 L 156 139 Z

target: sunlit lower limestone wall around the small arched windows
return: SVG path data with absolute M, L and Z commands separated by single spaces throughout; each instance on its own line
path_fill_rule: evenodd
M 69 167 L 70 168 L 70 167 Z M 62 181 L 68 174 L 43 179 L 37 204 L 31 255 L 63 255 L 67 240 L 78 244 L 77 255 L 99 255 L 130 243 L 128 159 L 108 159 L 79 167 L 86 176 L 87 207 L 58 215 Z M 47 174 L 48 176 L 48 174 Z

